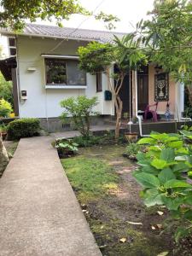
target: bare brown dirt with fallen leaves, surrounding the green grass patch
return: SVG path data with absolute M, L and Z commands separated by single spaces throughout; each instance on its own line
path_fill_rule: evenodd
M 164 208 L 143 205 L 141 187 L 132 172 L 137 166 L 125 159 L 123 146 L 103 146 L 80 150 L 86 158 L 104 160 L 119 175 L 118 189 L 82 205 L 82 210 L 104 256 L 189 255 L 173 253 L 172 234 L 164 232 Z M 75 191 L 77 196 L 79 191 Z M 81 202 L 80 202 L 81 203 Z M 158 213 L 161 213 L 161 215 Z M 121 239 L 123 240 L 121 241 Z

